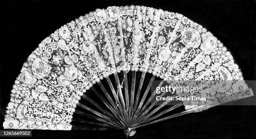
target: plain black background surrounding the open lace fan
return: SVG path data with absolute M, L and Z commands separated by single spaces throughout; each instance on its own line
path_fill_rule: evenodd
M 5 26 L 1 27 L 0 37 L 1 129 L 15 78 L 41 40 L 80 15 L 113 5 L 144 5 L 185 15 L 223 42 L 245 80 L 256 80 L 256 6 L 253 0 L 5 1 L 1 8 L 1 22 Z M 256 139 L 256 106 L 218 106 L 136 131 L 132 139 Z M 123 133 L 35 130 L 33 138 L 115 139 L 123 138 Z

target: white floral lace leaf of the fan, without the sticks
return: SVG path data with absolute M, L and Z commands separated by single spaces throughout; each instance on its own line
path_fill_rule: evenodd
M 129 70 L 164 80 L 243 79 L 223 44 L 181 14 L 133 5 L 97 9 L 56 30 L 28 57 L 3 127 L 70 130 L 80 96 Z

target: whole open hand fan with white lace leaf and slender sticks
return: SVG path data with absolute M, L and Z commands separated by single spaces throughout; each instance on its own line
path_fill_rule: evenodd
M 230 82 L 197 94 L 207 102 L 167 105 L 157 104 L 156 80 Z M 252 96 L 240 80 L 223 44 L 183 15 L 143 6 L 97 9 L 56 30 L 28 57 L 3 127 L 121 129 L 132 136 L 138 127 Z

